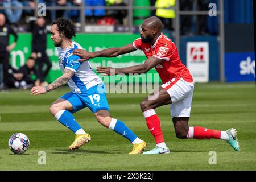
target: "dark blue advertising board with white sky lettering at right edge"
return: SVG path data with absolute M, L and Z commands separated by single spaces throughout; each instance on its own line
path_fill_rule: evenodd
M 255 53 L 225 53 L 226 82 L 255 81 Z

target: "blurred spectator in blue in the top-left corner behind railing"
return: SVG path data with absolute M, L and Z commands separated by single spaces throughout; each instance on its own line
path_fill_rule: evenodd
M 11 7 L 23 7 L 18 0 L 3 0 L 3 7 L 5 7 L 5 14 L 11 24 L 18 23 L 22 16 L 22 9 L 11 9 Z

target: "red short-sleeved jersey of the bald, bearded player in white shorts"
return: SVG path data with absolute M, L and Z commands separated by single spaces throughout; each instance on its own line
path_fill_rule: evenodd
M 142 43 L 141 38 L 139 38 L 134 40 L 133 46 L 136 49 L 141 49 L 147 58 L 154 56 L 163 59 L 162 63 L 155 67 L 163 84 L 173 78 L 183 78 L 187 82 L 193 81 L 192 75 L 185 65 L 181 63 L 177 47 L 163 33 L 158 37 L 154 45 L 151 45 L 150 42 Z

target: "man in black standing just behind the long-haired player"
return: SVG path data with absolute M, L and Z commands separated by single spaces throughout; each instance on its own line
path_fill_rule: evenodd
M 36 19 L 36 24 L 32 30 L 32 53 L 31 57 L 36 60 L 36 68 L 38 72 L 38 78 L 40 84 L 47 85 L 45 81 L 49 70 L 52 67 L 51 61 L 46 53 L 46 43 L 47 43 L 47 30 L 46 21 L 43 17 Z M 46 69 L 44 70 L 44 63 L 46 64 Z

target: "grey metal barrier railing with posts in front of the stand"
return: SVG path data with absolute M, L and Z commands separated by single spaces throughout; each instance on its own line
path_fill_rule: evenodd
M 197 0 L 195 0 L 197 3 Z M 34 10 L 34 16 L 38 16 L 39 10 L 39 1 L 35 0 L 36 8 L 23 6 L 23 7 L 10 7 L 10 9 L 23 9 L 23 10 Z M 219 8 L 216 14 L 219 16 L 219 34 L 218 41 L 220 44 L 220 81 L 224 82 L 224 51 L 225 51 L 225 42 L 224 42 L 224 0 L 218 0 Z M 4 10 L 5 7 L 0 6 L 0 10 Z M 81 21 L 81 31 L 85 32 L 86 16 L 84 15 L 84 10 L 86 9 L 105 9 L 105 10 L 127 10 L 127 19 L 128 19 L 128 32 L 133 32 L 133 10 L 135 9 L 150 9 L 156 10 L 155 6 L 133 6 L 133 0 L 129 1 L 129 4 L 126 6 L 86 6 L 84 1 L 81 1 L 80 6 L 47 6 L 46 10 L 80 10 L 80 21 Z M 180 11 L 180 3 L 177 0 L 175 7 L 170 9 L 175 10 L 176 18 L 174 26 L 174 37 L 175 44 L 177 48 L 180 48 L 180 15 L 208 15 L 208 11 Z

